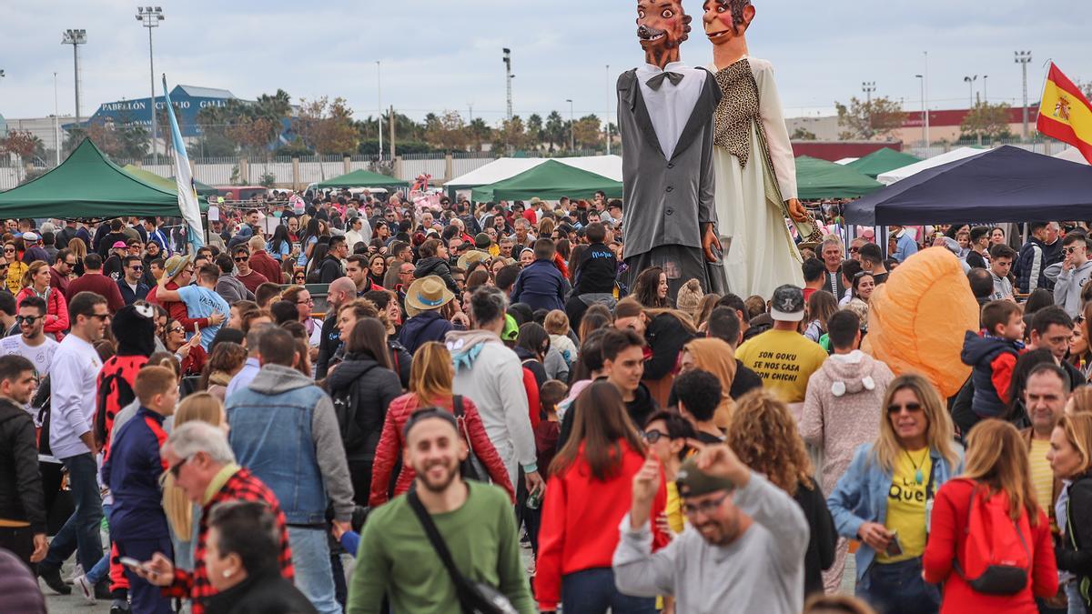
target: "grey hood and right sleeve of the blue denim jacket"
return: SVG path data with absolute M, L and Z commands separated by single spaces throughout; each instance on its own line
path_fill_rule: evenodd
M 262 365 L 250 388 L 261 394 L 284 394 L 314 386 L 314 380 L 292 367 L 281 365 Z M 341 429 L 334 404 L 330 397 L 323 394 L 314 405 L 311 414 L 311 438 L 314 439 L 314 454 L 319 461 L 322 482 L 334 506 L 334 518 L 348 522 L 353 519 L 353 481 L 348 474 L 348 463 L 345 460 L 345 447 L 342 445 Z

